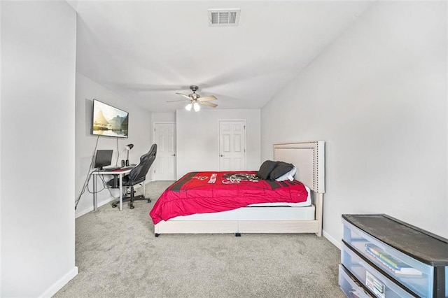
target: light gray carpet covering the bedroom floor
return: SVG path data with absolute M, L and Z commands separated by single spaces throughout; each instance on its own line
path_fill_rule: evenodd
M 106 204 L 76 219 L 79 274 L 54 297 L 344 297 L 339 250 L 314 234 L 176 234 L 155 238 L 151 204 Z

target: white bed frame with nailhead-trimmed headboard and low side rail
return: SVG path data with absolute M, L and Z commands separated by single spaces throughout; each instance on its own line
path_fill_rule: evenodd
M 241 233 L 315 233 L 322 236 L 325 142 L 274 144 L 274 160 L 296 166 L 295 179 L 311 190 L 312 204 L 315 207 L 314 220 L 162 220 L 154 226 L 155 236 L 213 233 L 235 233 L 237 236 Z

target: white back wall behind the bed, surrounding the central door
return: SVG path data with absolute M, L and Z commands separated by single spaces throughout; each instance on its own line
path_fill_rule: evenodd
M 176 111 L 177 178 L 219 168 L 219 120 L 246 120 L 246 167 L 260 168 L 260 110 Z

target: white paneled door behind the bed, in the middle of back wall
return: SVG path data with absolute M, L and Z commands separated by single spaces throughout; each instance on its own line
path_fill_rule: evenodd
M 246 120 L 219 122 L 219 170 L 246 170 Z

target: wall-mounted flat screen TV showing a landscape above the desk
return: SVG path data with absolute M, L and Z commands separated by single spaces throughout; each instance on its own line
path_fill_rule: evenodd
M 129 113 L 94 99 L 92 134 L 127 138 L 128 118 Z

